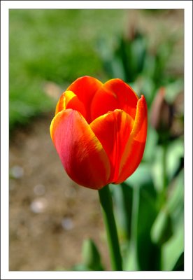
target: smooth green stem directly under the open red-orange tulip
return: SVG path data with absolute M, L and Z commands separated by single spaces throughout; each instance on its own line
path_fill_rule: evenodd
M 99 199 L 101 202 L 103 221 L 106 227 L 111 266 L 113 270 L 121 271 L 122 258 L 120 254 L 115 217 L 113 214 L 113 202 L 108 185 L 99 190 Z

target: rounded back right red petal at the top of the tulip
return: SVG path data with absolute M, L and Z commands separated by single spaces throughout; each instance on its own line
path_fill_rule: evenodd
M 125 111 L 134 119 L 137 102 L 136 93 L 127 83 L 119 78 L 108 80 L 99 88 L 92 99 L 92 120 L 115 109 Z

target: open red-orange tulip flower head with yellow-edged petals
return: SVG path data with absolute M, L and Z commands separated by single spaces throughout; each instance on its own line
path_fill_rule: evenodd
M 147 135 L 147 105 L 115 78 L 101 83 L 84 76 L 57 103 L 50 134 L 67 174 L 99 190 L 122 183 L 138 167 Z

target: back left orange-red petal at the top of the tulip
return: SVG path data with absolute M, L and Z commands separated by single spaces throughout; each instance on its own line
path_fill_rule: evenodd
M 94 94 L 102 85 L 103 83 L 101 83 L 96 78 L 83 76 L 75 80 L 67 89 L 76 94 L 80 102 L 84 104 L 86 112 L 85 119 L 87 120 L 87 123 L 91 122 L 90 104 L 92 102 Z

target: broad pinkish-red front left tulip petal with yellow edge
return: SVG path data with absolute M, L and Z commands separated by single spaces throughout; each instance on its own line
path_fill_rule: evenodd
M 73 181 L 99 189 L 110 176 L 110 163 L 85 118 L 72 109 L 57 113 L 50 134 L 64 169 Z

